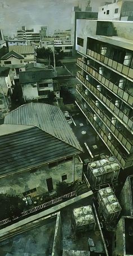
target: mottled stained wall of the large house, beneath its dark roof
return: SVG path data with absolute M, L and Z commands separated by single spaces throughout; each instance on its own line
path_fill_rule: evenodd
M 72 160 L 52 168 L 48 168 L 48 165 L 45 165 L 34 171 L 23 171 L 3 177 L 1 178 L 1 193 L 22 195 L 24 191 L 36 187 L 37 194 L 42 194 L 48 191 L 47 178 L 52 178 L 53 187 L 56 189 L 56 183 L 62 181 L 62 175 L 67 174 L 66 182 L 73 182 L 82 176 L 82 164 L 79 168 L 79 163 L 77 163 L 75 171 L 74 166 L 74 161 Z

